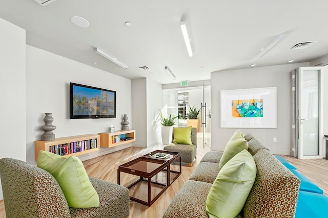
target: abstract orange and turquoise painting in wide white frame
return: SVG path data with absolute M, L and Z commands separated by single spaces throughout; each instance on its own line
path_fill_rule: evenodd
M 277 87 L 221 90 L 221 128 L 277 128 Z

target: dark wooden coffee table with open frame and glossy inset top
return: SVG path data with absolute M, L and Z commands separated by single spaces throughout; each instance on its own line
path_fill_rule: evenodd
M 158 153 L 164 154 L 165 157 L 156 157 L 156 154 Z M 174 161 L 179 161 L 179 171 L 173 171 L 171 169 L 171 164 Z M 127 188 L 131 188 L 142 181 L 146 181 L 148 183 L 148 201 L 143 201 L 132 196 L 130 196 L 130 199 L 132 201 L 151 206 L 159 198 L 159 196 L 181 175 L 181 154 L 178 152 L 156 150 L 122 164 L 118 166 L 117 169 L 117 184 L 120 184 L 121 172 L 139 177 L 137 181 L 128 185 Z M 156 181 L 153 178 L 160 172 L 166 173 L 165 181 Z M 174 174 L 175 176 L 171 178 L 171 174 Z M 152 184 L 162 186 L 162 189 L 153 199 L 151 198 Z

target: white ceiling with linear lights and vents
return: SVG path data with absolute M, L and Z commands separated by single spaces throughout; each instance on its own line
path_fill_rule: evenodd
M 56 0 L 44 7 L 33 0 L 1 0 L 0 17 L 25 29 L 29 45 L 125 78 L 168 84 L 208 80 L 212 71 L 248 68 L 260 49 L 282 33 L 285 37 L 255 61 L 256 67 L 324 56 L 327 9 L 326 0 Z M 72 16 L 86 18 L 90 27 L 74 26 Z M 182 19 L 193 57 L 183 41 Z M 125 26 L 126 21 L 132 26 Z M 303 50 L 288 50 L 305 41 L 316 42 Z M 129 68 L 96 54 L 95 47 Z M 150 69 L 137 69 L 144 65 Z

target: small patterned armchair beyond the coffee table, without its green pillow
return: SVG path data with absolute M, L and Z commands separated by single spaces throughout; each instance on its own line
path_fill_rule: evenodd
M 173 130 L 174 131 L 174 130 Z M 181 162 L 188 163 L 189 166 L 192 165 L 197 154 L 197 129 L 191 129 L 191 142 L 190 144 L 174 144 L 174 132 L 172 134 L 172 143 L 164 147 L 163 150 L 171 152 L 179 152 L 181 154 Z

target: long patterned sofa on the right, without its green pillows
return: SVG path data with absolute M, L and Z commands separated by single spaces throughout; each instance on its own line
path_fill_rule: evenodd
M 248 151 L 255 160 L 257 174 L 247 201 L 236 217 L 294 217 L 300 180 L 251 133 L 244 137 L 249 142 Z M 209 217 L 206 200 L 219 172 L 222 153 L 211 151 L 203 156 L 163 217 Z

